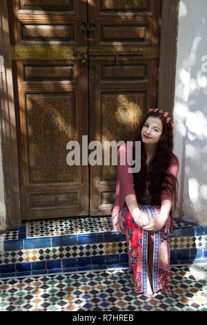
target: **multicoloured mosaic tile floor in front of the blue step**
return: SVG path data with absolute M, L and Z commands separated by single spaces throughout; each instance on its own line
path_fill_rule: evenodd
M 0 280 L 0 311 L 207 311 L 207 265 L 172 266 L 171 294 L 136 295 L 130 270 Z

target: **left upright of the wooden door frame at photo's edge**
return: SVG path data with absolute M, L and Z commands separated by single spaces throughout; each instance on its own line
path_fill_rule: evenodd
M 0 9 L 0 121 L 6 228 L 21 225 L 17 129 L 7 1 Z

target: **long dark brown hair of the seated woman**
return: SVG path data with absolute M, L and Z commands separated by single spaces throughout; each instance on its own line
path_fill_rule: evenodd
M 146 150 L 144 142 L 141 140 L 141 129 L 149 116 L 159 118 L 162 122 L 163 131 L 157 145 L 155 156 L 150 160 L 149 169 L 146 165 Z M 170 165 L 173 156 L 173 129 L 166 122 L 166 118 L 159 112 L 146 113 L 141 119 L 137 127 L 135 140 L 141 141 L 141 169 L 138 173 L 134 173 L 135 192 L 137 194 L 137 202 L 141 203 L 146 195 L 147 182 L 149 183 L 150 204 L 160 205 L 160 196 L 163 190 L 167 190 L 174 196 L 174 209 L 177 201 L 177 178 L 166 171 Z M 135 148 L 135 147 L 134 147 Z M 134 157 L 135 159 L 135 151 Z M 176 156 L 175 156 L 176 158 Z

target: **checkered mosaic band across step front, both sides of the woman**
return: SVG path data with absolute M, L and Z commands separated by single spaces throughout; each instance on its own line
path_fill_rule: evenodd
M 170 238 L 170 250 L 206 247 L 206 235 Z M 0 266 L 13 263 L 51 261 L 79 257 L 97 257 L 112 254 L 127 254 L 126 241 L 64 245 L 47 248 L 31 248 L 27 250 L 10 250 L 0 252 Z

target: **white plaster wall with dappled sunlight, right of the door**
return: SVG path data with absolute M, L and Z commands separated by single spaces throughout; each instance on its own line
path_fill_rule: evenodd
M 183 219 L 200 224 L 207 223 L 206 30 L 207 1 L 181 0 L 174 115 L 179 203 Z

